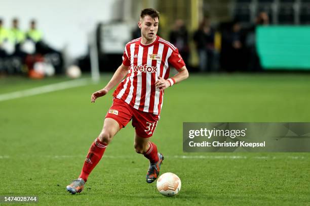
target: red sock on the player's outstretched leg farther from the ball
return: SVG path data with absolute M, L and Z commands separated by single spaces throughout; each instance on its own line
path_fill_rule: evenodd
M 90 147 L 80 175 L 80 178 L 85 180 L 85 182 L 89 174 L 101 160 L 106 146 L 107 144 L 102 143 L 97 137 Z

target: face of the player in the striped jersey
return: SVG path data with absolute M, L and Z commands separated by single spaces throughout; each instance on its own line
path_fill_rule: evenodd
M 154 39 L 158 31 L 158 24 L 158 18 L 154 20 L 150 16 L 145 16 L 143 19 L 141 19 L 138 25 L 141 29 L 142 37 L 146 38 L 148 41 Z

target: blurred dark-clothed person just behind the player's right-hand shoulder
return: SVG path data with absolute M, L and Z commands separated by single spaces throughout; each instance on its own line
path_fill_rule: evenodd
M 189 45 L 188 45 L 188 32 L 184 25 L 183 20 L 177 19 L 175 21 L 175 25 L 173 30 L 169 35 L 170 42 L 174 44 L 178 50 L 180 55 L 182 56 L 186 65 L 188 65 L 188 57 L 189 57 Z

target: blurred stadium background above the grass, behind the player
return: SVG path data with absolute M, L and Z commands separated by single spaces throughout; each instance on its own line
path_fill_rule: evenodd
M 159 35 L 190 72 L 310 70 L 310 0 L 10 0 L 0 9 L 0 75 L 96 80 L 141 36 L 143 8 L 160 12 Z

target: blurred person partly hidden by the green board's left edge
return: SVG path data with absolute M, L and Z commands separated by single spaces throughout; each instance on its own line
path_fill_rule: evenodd
M 261 12 L 258 14 L 255 20 L 255 24 L 247 30 L 246 49 L 248 54 L 248 68 L 250 72 L 262 71 L 260 60 L 256 50 L 256 35 L 255 30 L 259 25 L 268 25 L 269 17 L 267 13 Z

